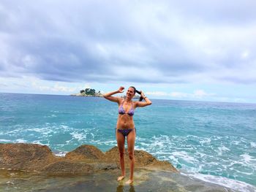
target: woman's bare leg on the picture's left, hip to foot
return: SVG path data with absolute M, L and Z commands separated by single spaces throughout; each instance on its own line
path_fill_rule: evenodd
M 117 146 L 118 146 L 118 151 L 119 151 L 119 161 L 120 161 L 120 166 L 121 166 L 121 176 L 117 178 L 117 180 L 123 180 L 125 177 L 125 168 L 124 168 L 124 142 L 125 138 L 124 135 L 121 134 L 119 131 L 116 129 L 116 141 L 117 141 Z

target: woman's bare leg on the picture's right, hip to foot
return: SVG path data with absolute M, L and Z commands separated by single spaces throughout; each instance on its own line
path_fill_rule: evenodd
M 136 137 L 135 130 L 129 132 L 127 136 L 127 147 L 128 147 L 128 154 L 129 154 L 129 160 L 130 160 L 130 163 L 129 163 L 130 174 L 129 174 L 129 180 L 127 181 L 128 184 L 131 184 L 133 182 L 133 173 L 135 169 L 135 155 L 134 155 L 135 137 Z

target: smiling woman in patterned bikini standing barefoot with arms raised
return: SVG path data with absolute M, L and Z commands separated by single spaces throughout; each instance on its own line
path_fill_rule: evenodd
M 132 97 L 135 93 L 140 93 L 140 101 L 132 101 Z M 119 161 L 121 166 L 121 176 L 117 178 L 121 181 L 125 177 L 124 168 L 124 142 L 125 137 L 127 137 L 127 147 L 130 160 L 130 174 L 127 184 L 133 182 L 133 172 L 135 169 L 135 158 L 134 158 L 134 147 L 135 147 L 135 123 L 133 121 L 133 115 L 136 107 L 146 107 L 152 104 L 152 102 L 144 95 L 142 91 L 136 91 L 135 87 L 129 87 L 127 90 L 127 95 L 125 99 L 121 97 L 113 96 L 116 93 L 124 93 L 124 87 L 120 87 L 118 91 L 112 91 L 110 93 L 105 93 L 103 96 L 105 99 L 118 103 L 118 120 L 116 123 L 116 141 L 119 151 Z M 145 101 L 142 101 L 144 99 Z

